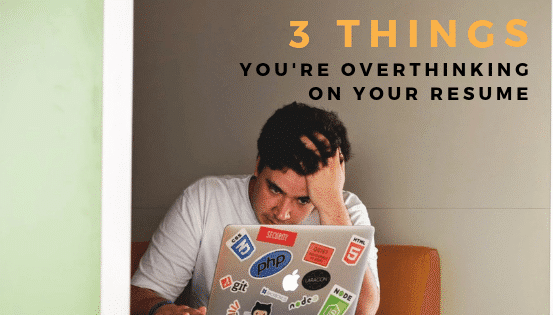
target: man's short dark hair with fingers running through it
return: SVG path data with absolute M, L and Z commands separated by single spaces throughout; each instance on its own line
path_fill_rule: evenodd
M 320 141 L 323 135 L 329 145 Z M 317 147 L 320 156 L 305 147 L 301 137 L 308 137 Z M 273 170 L 289 168 L 300 175 L 319 170 L 319 163 L 327 165 L 328 158 L 340 151 L 344 161 L 350 158 L 350 144 L 346 127 L 338 115 L 331 111 L 302 103 L 292 103 L 277 111 L 267 120 L 257 140 L 259 165 L 257 171 L 268 166 Z

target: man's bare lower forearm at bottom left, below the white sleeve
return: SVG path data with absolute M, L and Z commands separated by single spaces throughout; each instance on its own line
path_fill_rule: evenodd
M 167 301 L 154 291 L 131 285 L 131 314 L 148 315 L 157 303 Z M 167 304 L 158 308 L 156 315 L 205 315 L 206 308 L 193 309 L 185 305 Z

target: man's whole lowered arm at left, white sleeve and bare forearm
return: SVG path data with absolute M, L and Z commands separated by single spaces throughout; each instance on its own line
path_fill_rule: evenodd
M 189 197 L 190 191 L 197 189 L 195 185 L 197 183 L 191 185 L 173 203 L 140 260 L 131 280 L 133 315 L 148 315 L 157 303 L 176 299 L 192 277 L 200 243 L 197 236 L 202 233 L 196 199 Z M 159 288 L 164 297 L 154 291 L 155 288 Z M 185 310 L 190 315 L 205 314 L 175 304 L 163 305 L 155 314 L 186 314 Z

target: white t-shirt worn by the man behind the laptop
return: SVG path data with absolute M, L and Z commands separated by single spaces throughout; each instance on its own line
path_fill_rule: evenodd
M 223 230 L 229 224 L 260 224 L 248 196 L 251 175 L 205 177 L 175 201 L 152 236 L 131 284 L 148 288 L 171 301 L 190 282 L 188 306 L 207 306 Z M 344 191 L 354 225 L 370 225 L 359 198 Z M 315 209 L 301 224 L 320 224 Z M 369 251 L 369 267 L 378 281 L 377 249 Z

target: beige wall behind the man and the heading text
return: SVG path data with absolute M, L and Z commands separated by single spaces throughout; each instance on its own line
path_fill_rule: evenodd
M 337 111 L 348 126 L 346 188 L 369 208 L 377 243 L 438 249 L 444 314 L 548 313 L 549 2 L 135 1 L 135 10 L 133 240 L 147 240 L 194 180 L 252 172 L 262 124 L 297 100 Z M 351 48 L 338 19 L 361 21 Z M 382 28 L 397 20 L 396 48 L 370 47 L 371 19 Z M 429 47 L 431 19 L 457 21 L 457 47 Z M 486 49 L 466 35 L 481 19 L 494 23 Z M 524 47 L 504 44 L 517 39 L 505 30 L 511 19 L 528 22 Z M 291 20 L 309 21 L 307 47 L 288 46 Z M 244 77 L 240 62 L 328 63 L 330 76 Z M 345 77 L 346 62 L 524 62 L 529 75 Z M 311 100 L 314 86 L 340 86 L 341 100 Z M 412 86 L 418 100 L 358 101 L 353 86 Z M 529 100 L 430 101 L 432 86 L 526 86 Z

